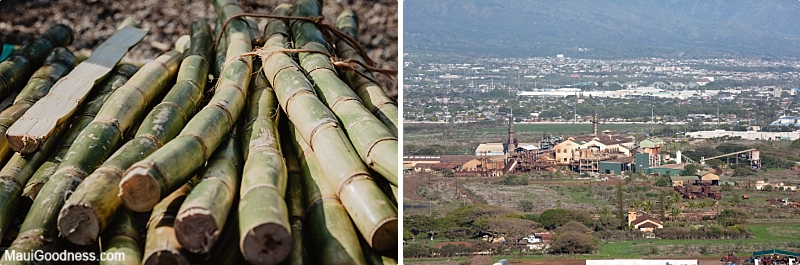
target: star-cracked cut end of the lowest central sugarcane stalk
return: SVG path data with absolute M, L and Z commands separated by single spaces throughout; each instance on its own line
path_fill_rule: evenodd
M 289 256 L 292 236 L 282 225 L 266 223 L 248 231 L 239 247 L 244 258 L 252 264 L 278 264 Z

